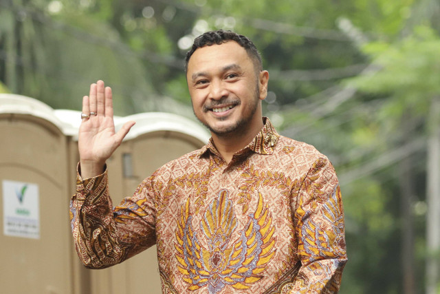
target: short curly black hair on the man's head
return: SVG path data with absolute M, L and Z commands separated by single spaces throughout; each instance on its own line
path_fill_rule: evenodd
M 191 49 L 186 53 L 185 72 L 188 71 L 188 62 L 190 61 L 190 58 L 195 50 L 214 44 L 220 45 L 228 41 L 235 41 L 236 43 L 241 45 L 241 47 L 245 48 L 250 59 L 252 59 L 254 63 L 255 69 L 258 71 L 263 70 L 263 63 L 261 62 L 261 55 L 259 53 L 259 50 L 256 49 L 254 43 L 252 43 L 252 41 L 248 37 L 241 34 L 236 34 L 235 32 L 232 32 L 230 30 L 216 30 L 201 34 L 200 36 L 197 36 L 196 39 L 194 39 L 194 43 L 192 43 Z

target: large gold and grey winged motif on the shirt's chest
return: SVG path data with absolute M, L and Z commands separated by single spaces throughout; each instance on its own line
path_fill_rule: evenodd
M 202 287 L 207 287 L 209 293 L 218 293 L 227 286 L 250 288 L 263 278 L 261 273 L 276 253 L 272 214 L 261 193 L 256 211 L 249 214 L 240 237 L 231 242 L 237 223 L 228 193 L 220 191 L 219 197 L 210 203 L 200 222 L 200 231 L 192 227 L 189 198 L 181 207 L 175 256 L 190 291 Z M 203 233 L 207 248 L 201 245 L 197 233 Z

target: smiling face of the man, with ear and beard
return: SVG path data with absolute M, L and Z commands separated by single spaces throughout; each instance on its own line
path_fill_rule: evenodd
M 239 134 L 261 123 L 260 101 L 267 94 L 268 74 L 255 69 L 238 43 L 195 50 L 186 79 L 195 116 L 213 134 Z

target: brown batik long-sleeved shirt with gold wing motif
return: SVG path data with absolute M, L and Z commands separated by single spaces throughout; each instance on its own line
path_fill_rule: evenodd
M 85 266 L 157 244 L 163 293 L 336 293 L 347 262 L 340 187 L 314 147 L 270 121 L 228 164 L 212 139 L 146 178 L 112 207 L 107 172 L 71 202 Z

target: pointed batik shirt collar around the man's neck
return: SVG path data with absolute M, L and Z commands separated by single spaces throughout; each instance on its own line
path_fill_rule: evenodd
M 245 151 L 254 151 L 258 154 L 273 154 L 276 143 L 278 143 L 278 139 L 280 135 L 276 132 L 276 129 L 270 122 L 269 118 L 263 117 L 263 127 L 259 134 L 256 134 L 254 139 L 249 143 L 248 146 L 241 149 L 241 151 L 237 152 L 237 154 L 243 154 Z M 212 137 L 209 139 L 208 144 L 203 146 L 200 149 L 199 156 L 206 154 L 207 151 L 211 151 L 212 154 L 219 154 L 217 148 L 214 146 L 214 141 Z

